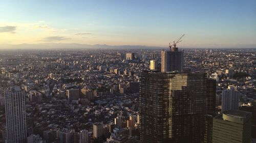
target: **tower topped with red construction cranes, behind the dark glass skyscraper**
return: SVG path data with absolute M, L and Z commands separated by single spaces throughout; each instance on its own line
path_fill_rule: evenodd
M 184 67 L 184 52 L 179 51 L 178 48 L 172 48 L 170 51 L 161 51 L 161 71 L 172 72 L 178 71 L 183 72 Z

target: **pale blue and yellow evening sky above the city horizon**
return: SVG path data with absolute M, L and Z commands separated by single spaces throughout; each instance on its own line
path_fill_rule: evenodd
M 0 1 L 5 44 L 256 48 L 255 0 Z M 3 47 L 2 47 L 3 48 Z

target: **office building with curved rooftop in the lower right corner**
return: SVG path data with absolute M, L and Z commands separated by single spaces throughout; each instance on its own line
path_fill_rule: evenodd
M 251 138 L 251 113 L 228 110 L 213 120 L 213 143 L 249 143 Z

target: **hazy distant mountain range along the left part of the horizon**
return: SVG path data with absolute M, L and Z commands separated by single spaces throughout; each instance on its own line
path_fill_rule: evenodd
M 153 47 L 153 46 L 141 46 L 141 45 L 88 45 L 77 43 L 43 43 L 43 44 L 2 44 L 0 49 L 157 49 L 168 48 L 166 47 Z

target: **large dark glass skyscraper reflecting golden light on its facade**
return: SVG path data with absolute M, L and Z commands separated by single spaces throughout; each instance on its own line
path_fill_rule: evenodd
M 141 73 L 141 142 L 201 142 L 206 80 L 201 73 Z

